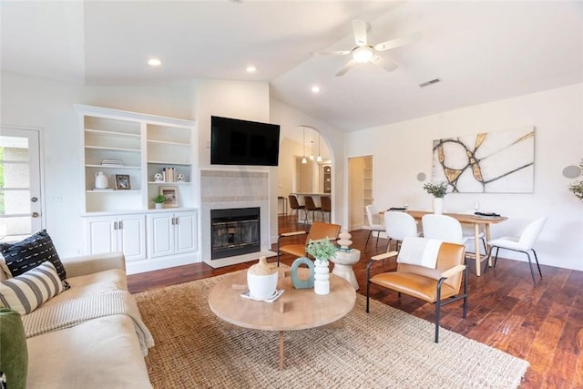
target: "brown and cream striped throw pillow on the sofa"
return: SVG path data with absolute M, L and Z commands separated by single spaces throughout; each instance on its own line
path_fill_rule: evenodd
M 64 290 L 65 285 L 59 279 L 55 265 L 46 261 L 33 270 L 0 282 L 0 302 L 26 314 Z

